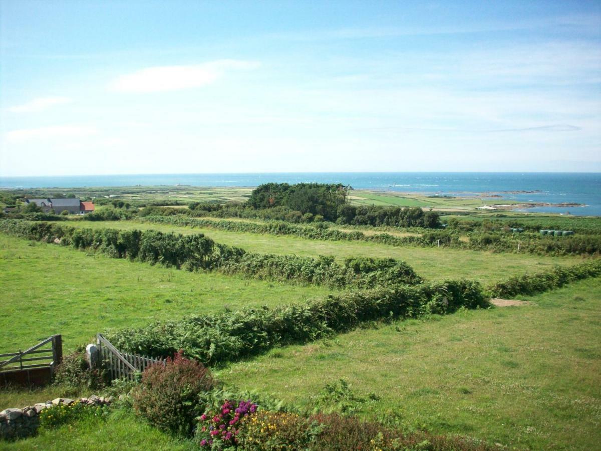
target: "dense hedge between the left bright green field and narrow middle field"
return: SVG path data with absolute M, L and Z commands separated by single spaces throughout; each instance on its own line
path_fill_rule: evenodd
M 356 257 L 342 265 L 334 257 L 249 253 L 219 244 L 201 233 L 181 235 L 155 230 L 79 229 L 49 222 L 0 221 L 0 230 L 23 238 L 59 242 L 77 249 L 94 250 L 119 259 L 155 265 L 241 274 L 258 279 L 319 284 L 337 288 L 373 288 L 391 284 L 421 283 L 404 262 Z

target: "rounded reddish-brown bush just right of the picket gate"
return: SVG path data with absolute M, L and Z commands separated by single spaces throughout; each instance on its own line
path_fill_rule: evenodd
M 198 395 L 212 387 L 209 370 L 177 352 L 165 366 L 154 364 L 142 373 L 141 383 L 132 391 L 133 406 L 157 428 L 189 434 L 204 410 Z

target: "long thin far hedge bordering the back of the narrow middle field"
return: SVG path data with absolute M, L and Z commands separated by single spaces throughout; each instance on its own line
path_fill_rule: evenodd
M 572 235 L 548 237 L 532 234 L 478 233 L 465 234 L 456 230 L 429 230 L 421 235 L 394 236 L 389 233 L 366 235 L 356 230 L 343 232 L 326 224 L 300 225 L 283 221 L 264 223 L 228 221 L 222 219 L 189 218 L 188 216 L 147 216 L 143 219 L 160 224 L 204 227 L 228 232 L 267 233 L 291 235 L 301 238 L 332 241 L 367 241 L 396 247 L 415 245 L 421 247 L 450 247 L 467 250 L 492 250 L 496 252 L 522 252 L 538 255 L 594 255 L 601 253 L 601 235 Z M 461 239 L 462 236 L 464 239 Z M 465 239 L 467 238 L 467 239 Z

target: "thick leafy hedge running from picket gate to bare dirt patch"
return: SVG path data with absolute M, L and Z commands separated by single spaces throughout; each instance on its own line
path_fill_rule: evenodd
M 444 281 L 330 295 L 306 304 L 245 308 L 154 322 L 143 328 L 109 331 L 118 349 L 153 357 L 185 355 L 205 364 L 222 364 L 273 346 L 303 343 L 357 327 L 365 321 L 451 313 L 487 307 L 477 281 Z

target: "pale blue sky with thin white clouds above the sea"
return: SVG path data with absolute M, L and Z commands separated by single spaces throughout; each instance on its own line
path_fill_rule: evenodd
M 0 176 L 601 171 L 601 3 L 0 1 Z

